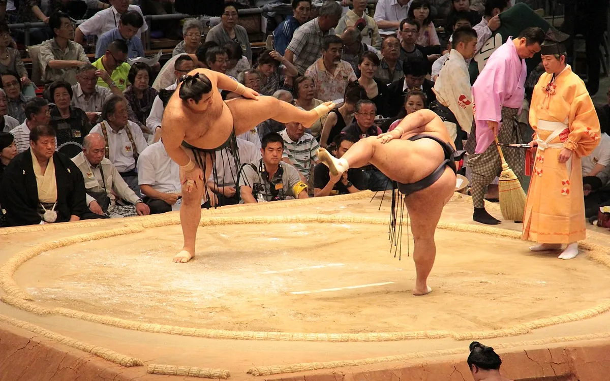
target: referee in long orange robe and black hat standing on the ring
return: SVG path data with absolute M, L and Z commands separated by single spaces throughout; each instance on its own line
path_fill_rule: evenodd
M 565 64 L 569 36 L 549 30 L 540 54 L 540 76 L 529 108 L 536 161 L 523 217 L 523 240 L 531 251 L 566 249 L 560 259 L 578 255 L 586 235 L 581 157 L 600 143 L 600 122 L 583 80 Z

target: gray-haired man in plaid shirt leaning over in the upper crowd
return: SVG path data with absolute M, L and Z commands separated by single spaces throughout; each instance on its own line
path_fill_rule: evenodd
M 322 38 L 335 33 L 343 9 L 336 1 L 325 1 L 318 17 L 295 30 L 284 57 L 296 66 L 300 74 L 322 55 Z

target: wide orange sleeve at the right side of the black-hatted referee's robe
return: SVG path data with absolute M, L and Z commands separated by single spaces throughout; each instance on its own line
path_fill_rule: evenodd
M 564 147 L 578 157 L 584 157 L 590 155 L 600 143 L 600 121 L 589 93 L 584 88 L 576 93 L 580 94 L 576 94 L 570 105 L 570 134 Z

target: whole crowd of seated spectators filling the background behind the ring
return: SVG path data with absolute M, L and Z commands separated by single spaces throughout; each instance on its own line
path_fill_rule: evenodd
M 480 51 L 513 5 L 293 0 L 292 15 L 261 51 L 240 24 L 241 4 L 225 2 L 211 29 L 196 16 L 147 23 L 145 14 L 172 13 L 172 3 L 0 0 L 0 226 L 179 210 L 179 168 L 163 147 L 163 110 L 182 76 L 196 68 L 305 110 L 337 104 L 307 128 L 270 119 L 218 150 L 202 207 L 391 189 L 373 165 L 332 176 L 318 148 L 340 158 L 361 138 L 433 108 L 453 32 L 474 30 Z M 46 26 L 29 30 L 27 60 L 40 75 L 32 79 L 35 68 L 28 73 L 19 49 L 23 30 L 9 24 L 37 21 Z M 182 40 L 167 62 L 149 65 L 146 33 Z M 238 97 L 219 90 L 226 101 Z M 610 106 L 599 112 L 608 114 Z M 459 131 L 456 146 L 466 138 Z M 592 207 L 610 199 L 608 135 L 583 158 L 583 174 Z

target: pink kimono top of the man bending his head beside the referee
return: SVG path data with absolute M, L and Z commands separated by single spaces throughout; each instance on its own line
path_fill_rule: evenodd
M 493 141 L 493 131 L 487 121 L 500 122 L 502 107 L 521 109 L 525 97 L 527 68 L 509 37 L 489 57 L 483 71 L 472 85 L 475 102 L 476 154 L 481 154 Z M 505 141 L 503 143 L 514 143 Z

